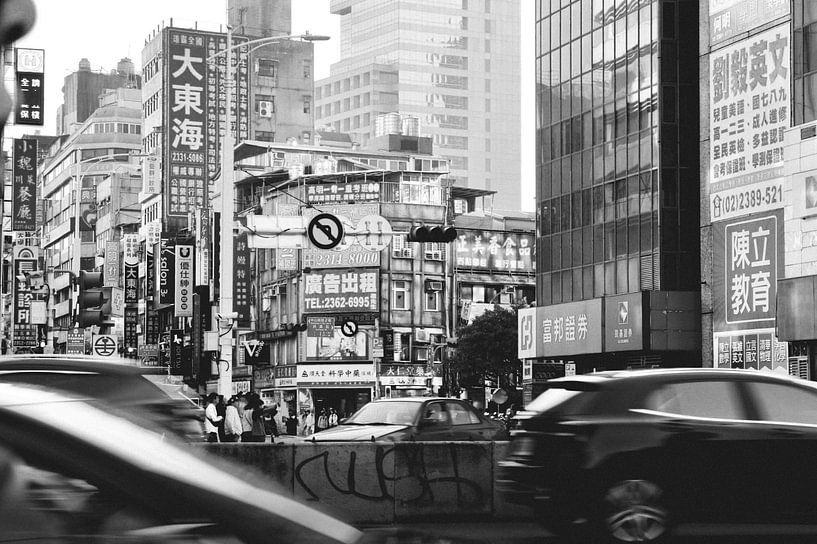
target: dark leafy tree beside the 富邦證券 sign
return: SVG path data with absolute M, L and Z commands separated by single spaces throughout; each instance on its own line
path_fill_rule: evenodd
M 495 306 L 457 332 L 457 350 L 451 361 L 461 387 L 481 387 L 492 380 L 509 390 L 522 371 L 517 358 L 516 310 Z

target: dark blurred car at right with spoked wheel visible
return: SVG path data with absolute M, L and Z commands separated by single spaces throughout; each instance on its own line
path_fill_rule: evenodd
M 649 542 L 684 524 L 817 523 L 812 382 L 719 369 L 572 376 L 550 380 L 516 423 L 497 488 L 557 532 Z

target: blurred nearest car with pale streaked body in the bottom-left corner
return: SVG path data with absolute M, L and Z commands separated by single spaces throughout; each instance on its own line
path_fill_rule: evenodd
M 0 541 L 352 543 L 221 459 L 62 394 L 0 384 Z

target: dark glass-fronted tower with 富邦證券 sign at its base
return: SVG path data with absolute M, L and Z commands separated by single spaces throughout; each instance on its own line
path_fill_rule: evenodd
M 685 45 L 698 8 L 537 2 L 537 307 L 521 311 L 523 358 L 577 372 L 700 364 L 698 56 Z

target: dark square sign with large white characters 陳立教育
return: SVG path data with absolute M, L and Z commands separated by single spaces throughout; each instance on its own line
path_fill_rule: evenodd
M 774 328 L 783 277 L 783 210 L 712 225 L 715 332 Z

